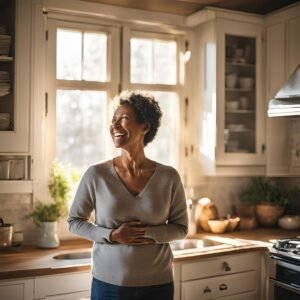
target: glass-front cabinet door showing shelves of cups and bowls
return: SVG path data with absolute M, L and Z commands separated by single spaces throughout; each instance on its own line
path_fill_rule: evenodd
M 217 164 L 264 163 L 261 38 L 260 25 L 217 22 Z

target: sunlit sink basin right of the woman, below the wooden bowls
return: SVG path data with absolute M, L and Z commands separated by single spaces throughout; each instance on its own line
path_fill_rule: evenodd
M 209 240 L 209 239 L 185 239 L 185 240 L 176 240 L 170 242 L 171 249 L 173 251 L 178 250 L 190 250 L 190 249 L 210 249 L 215 246 L 224 245 L 221 242 Z

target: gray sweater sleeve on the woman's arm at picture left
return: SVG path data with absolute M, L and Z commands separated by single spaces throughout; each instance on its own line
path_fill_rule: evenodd
M 109 237 L 112 229 L 98 226 L 90 221 L 91 213 L 95 209 L 95 201 L 93 175 L 88 169 L 79 183 L 70 208 L 69 230 L 93 242 L 111 243 Z

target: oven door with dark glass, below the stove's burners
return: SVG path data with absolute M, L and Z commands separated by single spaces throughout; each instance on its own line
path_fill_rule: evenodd
M 269 300 L 300 299 L 300 266 L 271 256 Z

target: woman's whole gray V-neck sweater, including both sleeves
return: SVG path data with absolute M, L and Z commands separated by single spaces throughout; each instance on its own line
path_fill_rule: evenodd
M 95 223 L 89 221 L 95 211 Z M 130 246 L 111 243 L 113 229 L 141 221 L 155 243 Z M 157 163 L 144 189 L 133 196 L 109 160 L 92 165 L 83 175 L 68 218 L 70 231 L 94 242 L 92 273 L 120 286 L 149 286 L 173 280 L 169 242 L 188 230 L 186 199 L 178 172 Z

